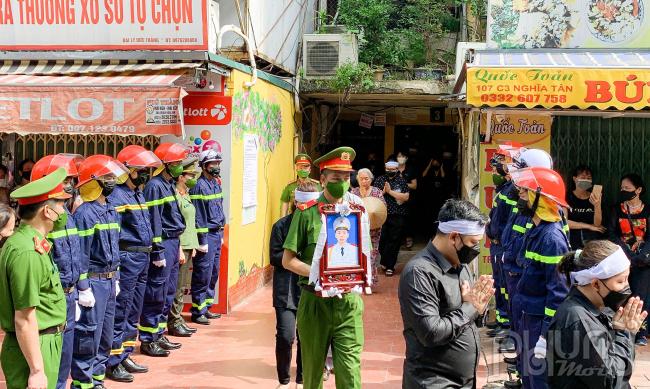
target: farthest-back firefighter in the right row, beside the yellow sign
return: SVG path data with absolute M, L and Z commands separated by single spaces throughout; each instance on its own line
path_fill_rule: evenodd
M 490 161 L 492 167 L 496 170 L 493 174 L 493 181 L 496 185 L 494 201 L 490 210 L 490 223 L 485 232 L 490 239 L 490 264 L 492 265 L 492 277 L 494 278 L 494 288 L 496 290 L 494 299 L 496 302 L 496 320 L 501 331 L 494 331 L 492 334 L 505 337 L 502 350 L 514 351 L 514 343 L 507 337 L 510 321 L 508 319 L 508 295 L 506 293 L 505 281 L 501 262 L 503 257 L 503 246 L 501 244 L 501 235 L 503 228 L 508 222 L 508 218 L 513 212 L 517 211 L 516 191 L 510 182 L 508 175 L 507 163 L 510 162 L 514 155 L 521 149 L 521 145 L 513 142 L 499 146 L 494 157 Z

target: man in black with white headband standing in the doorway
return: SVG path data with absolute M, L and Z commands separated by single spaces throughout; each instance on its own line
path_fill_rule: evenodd
M 408 216 L 409 188 L 403 177 L 399 175 L 399 164 L 396 161 L 386 162 L 386 174 L 377 177 L 374 186 L 384 191 L 384 199 L 388 208 L 388 217 L 381 229 L 379 253 L 381 266 L 386 276 L 391 277 L 395 271 L 399 246 L 402 244 L 406 218 Z

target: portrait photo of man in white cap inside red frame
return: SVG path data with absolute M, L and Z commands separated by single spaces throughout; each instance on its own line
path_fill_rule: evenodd
M 327 265 L 329 268 L 359 266 L 357 217 L 357 215 L 327 216 Z

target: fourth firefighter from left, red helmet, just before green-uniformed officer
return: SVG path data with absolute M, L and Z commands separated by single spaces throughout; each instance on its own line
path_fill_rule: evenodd
M 185 231 L 174 180 L 183 174 L 183 160 L 188 151 L 178 143 L 161 143 L 154 153 L 163 165 L 144 187 L 153 229 L 153 248 L 138 330 L 140 352 L 152 357 L 167 357 L 171 350 L 181 347 L 163 333 L 176 294 L 179 237 Z

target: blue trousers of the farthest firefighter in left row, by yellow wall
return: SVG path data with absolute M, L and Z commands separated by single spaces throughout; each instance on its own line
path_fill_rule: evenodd
M 222 232 L 207 234 L 208 252 L 196 253 L 192 259 L 192 315 L 203 315 L 214 303 L 219 281 Z

